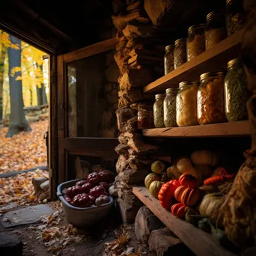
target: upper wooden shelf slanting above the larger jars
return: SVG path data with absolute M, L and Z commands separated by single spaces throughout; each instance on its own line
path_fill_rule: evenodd
M 201 55 L 186 62 L 176 70 L 146 85 L 143 90 L 144 93 L 165 92 L 166 88 L 178 87 L 179 82 L 186 80 L 198 81 L 202 73 L 226 69 L 228 61 L 237 58 L 239 55 L 242 36 L 243 30 L 238 31 L 212 49 L 201 53 Z

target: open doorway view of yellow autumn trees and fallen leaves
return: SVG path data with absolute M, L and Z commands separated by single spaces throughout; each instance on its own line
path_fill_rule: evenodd
M 46 52 L 0 30 L 0 207 L 49 197 L 48 62 Z

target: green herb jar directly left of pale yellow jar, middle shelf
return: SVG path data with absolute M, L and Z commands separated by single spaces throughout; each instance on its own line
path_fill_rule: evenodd
M 164 100 L 164 123 L 165 127 L 177 127 L 176 123 L 176 96 L 178 88 L 168 88 L 165 90 Z

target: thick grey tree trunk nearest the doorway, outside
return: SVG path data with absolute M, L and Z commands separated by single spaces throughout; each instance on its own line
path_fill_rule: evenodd
M 12 137 L 20 131 L 30 131 L 31 128 L 25 119 L 24 103 L 22 98 L 22 80 L 16 80 L 17 76 L 21 76 L 20 72 L 16 72 L 14 76 L 11 74 L 13 67 L 21 67 L 21 41 L 16 37 L 10 37 L 10 42 L 19 46 L 19 49 L 8 48 L 9 59 L 9 85 L 10 85 L 10 124 L 6 137 Z

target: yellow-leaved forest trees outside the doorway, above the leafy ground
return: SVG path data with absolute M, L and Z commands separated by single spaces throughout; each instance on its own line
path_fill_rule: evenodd
M 10 115 L 7 137 L 28 131 L 23 107 L 49 100 L 48 59 L 45 52 L 0 30 L 0 122 Z

